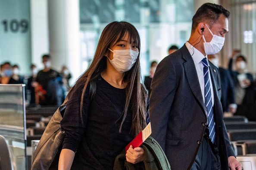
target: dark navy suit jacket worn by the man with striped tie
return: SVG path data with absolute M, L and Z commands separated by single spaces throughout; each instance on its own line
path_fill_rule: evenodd
M 227 170 L 228 156 L 234 156 L 234 151 L 223 121 L 219 70 L 212 63 L 209 65 L 215 142 L 222 169 Z M 194 163 L 206 127 L 205 110 L 194 61 L 184 45 L 158 64 L 151 84 L 151 135 L 165 151 L 172 170 L 187 170 Z

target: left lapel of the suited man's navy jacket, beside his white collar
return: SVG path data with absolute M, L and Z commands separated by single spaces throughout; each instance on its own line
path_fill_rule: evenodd
M 197 76 L 197 70 L 193 61 L 193 58 L 191 57 L 190 53 L 187 50 L 186 46 L 183 46 L 181 49 L 182 56 L 186 60 L 184 62 L 184 70 L 187 77 L 188 84 L 190 86 L 191 91 L 193 92 L 196 99 L 199 101 L 199 103 L 204 108 L 203 103 L 203 95 L 200 88 L 200 83 Z

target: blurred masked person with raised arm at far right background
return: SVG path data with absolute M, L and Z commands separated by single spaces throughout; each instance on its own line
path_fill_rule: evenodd
M 235 70 L 232 70 L 233 60 Z M 230 70 L 235 86 L 237 112 L 234 115 L 244 115 L 249 121 L 256 121 L 256 95 L 253 75 L 247 71 L 247 60 L 243 55 L 230 58 Z

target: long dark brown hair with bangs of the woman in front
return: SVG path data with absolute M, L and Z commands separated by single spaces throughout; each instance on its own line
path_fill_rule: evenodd
M 125 21 L 114 21 L 108 24 L 101 33 L 100 40 L 94 55 L 94 59 L 90 67 L 80 76 L 79 79 L 86 79 L 84 84 L 81 99 L 84 98 L 85 89 L 89 81 L 96 79 L 104 70 L 106 70 L 106 56 L 108 48 L 114 46 L 128 33 L 130 42 L 134 40 L 140 52 L 140 36 L 137 29 L 130 23 Z M 78 80 L 79 80 L 78 79 Z M 132 109 L 132 124 L 130 134 L 136 136 L 141 130 L 146 127 L 146 108 L 147 108 L 147 92 L 144 86 L 140 83 L 140 53 L 137 61 L 131 70 L 125 72 L 124 82 L 126 86 L 126 103 L 123 112 L 122 122 L 119 132 L 122 130 L 122 124 L 127 115 L 128 106 Z M 73 88 L 72 88 L 73 89 Z M 72 89 L 70 91 L 72 91 Z M 70 93 L 69 93 L 70 94 Z M 69 97 L 69 94 L 67 97 Z M 80 113 L 82 116 L 83 100 L 81 100 Z

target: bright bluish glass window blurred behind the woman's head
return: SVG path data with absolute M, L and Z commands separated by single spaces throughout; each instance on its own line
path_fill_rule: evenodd
M 124 20 L 134 24 L 140 33 L 144 77 L 149 74 L 151 61 L 161 61 L 170 45 L 181 47 L 189 39 L 193 15 L 194 0 L 80 0 L 83 69 L 93 57 L 88 50 L 96 49 L 106 24 Z

